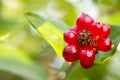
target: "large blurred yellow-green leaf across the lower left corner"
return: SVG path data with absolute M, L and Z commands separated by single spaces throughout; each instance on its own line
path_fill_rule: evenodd
M 10 44 L 0 44 L 0 70 L 28 80 L 46 80 L 46 70 Z

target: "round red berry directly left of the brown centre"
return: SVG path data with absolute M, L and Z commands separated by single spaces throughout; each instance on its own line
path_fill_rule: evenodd
M 76 44 L 77 43 L 77 33 L 75 31 L 66 31 L 64 33 L 64 40 L 68 44 Z

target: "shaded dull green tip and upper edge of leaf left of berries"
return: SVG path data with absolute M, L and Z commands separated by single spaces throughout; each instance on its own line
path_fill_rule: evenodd
M 58 29 L 62 30 L 62 31 L 66 31 L 69 29 L 69 26 L 67 24 L 65 24 L 62 21 L 56 20 L 56 19 L 51 19 L 51 18 L 47 18 L 47 17 L 43 17 L 31 12 L 28 12 L 25 14 L 26 19 L 28 20 L 28 22 L 34 27 L 40 27 L 44 22 L 50 22 L 52 23 L 55 27 L 57 27 Z

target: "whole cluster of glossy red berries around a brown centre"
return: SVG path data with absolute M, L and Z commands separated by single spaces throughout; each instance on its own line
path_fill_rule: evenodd
M 108 24 L 95 22 L 83 13 L 77 18 L 76 26 L 64 33 L 68 43 L 63 51 L 64 59 L 68 62 L 80 60 L 82 67 L 92 67 L 98 50 L 107 52 L 112 48 L 112 42 L 107 38 L 109 34 Z

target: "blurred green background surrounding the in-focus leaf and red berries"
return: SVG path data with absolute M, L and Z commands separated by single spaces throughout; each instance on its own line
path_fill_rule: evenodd
M 97 21 L 120 25 L 119 5 L 120 0 L 0 0 L 0 80 L 120 80 L 119 47 L 109 62 L 89 70 L 76 65 L 62 79 L 68 64 L 24 16 L 35 12 L 71 27 L 84 12 Z

